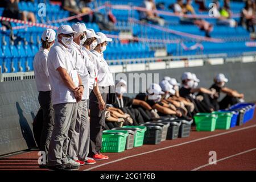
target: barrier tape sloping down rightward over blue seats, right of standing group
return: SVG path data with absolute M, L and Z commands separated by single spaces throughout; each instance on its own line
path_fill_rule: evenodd
M 134 19 L 134 18 L 129 18 L 129 20 L 131 22 L 138 23 L 138 24 L 143 24 L 143 25 L 155 28 L 155 29 L 160 30 L 160 31 L 168 32 L 168 33 L 175 34 L 175 35 L 185 36 L 185 37 L 192 38 L 192 39 L 204 40 L 204 41 L 207 41 L 207 42 L 214 42 L 214 43 L 224 42 L 224 40 L 222 40 L 222 39 L 207 38 L 205 36 L 180 32 L 180 31 L 172 30 L 170 28 L 164 28 L 164 27 L 161 27 L 161 26 L 158 26 L 158 25 L 155 25 L 155 24 L 145 23 L 145 22 L 142 22 L 142 21 Z

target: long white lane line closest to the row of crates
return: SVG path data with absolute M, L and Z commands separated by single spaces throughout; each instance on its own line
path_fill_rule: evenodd
M 96 168 L 99 168 L 99 167 L 102 167 L 102 166 L 106 166 L 106 165 L 108 165 L 108 164 L 116 163 L 116 162 L 119 162 L 119 161 L 121 161 L 121 160 L 129 159 L 129 158 L 134 158 L 134 157 L 136 157 L 136 156 L 140 156 L 140 155 L 144 155 L 144 154 L 150 154 L 150 153 L 152 153 L 152 152 L 157 152 L 157 151 L 160 151 L 160 150 L 165 150 L 165 149 L 167 149 L 167 148 L 173 148 L 173 147 L 177 147 L 177 146 L 182 146 L 182 145 L 184 145 L 184 144 L 189 144 L 189 143 L 193 143 L 193 142 L 198 142 L 198 141 L 200 141 L 200 140 L 205 140 L 205 139 L 208 139 L 208 138 L 218 137 L 218 136 L 221 136 L 221 135 L 226 135 L 226 134 L 234 133 L 234 132 L 241 131 L 241 130 L 250 129 L 250 128 L 252 128 L 252 127 L 256 127 L 256 125 L 246 126 L 246 127 L 242 127 L 241 129 L 226 131 L 226 132 L 224 132 L 224 133 L 219 133 L 219 134 L 215 134 L 215 135 L 210 135 L 210 136 L 208 136 L 208 137 L 198 138 L 198 139 L 195 139 L 195 140 L 190 140 L 190 141 L 188 141 L 188 142 L 183 142 L 183 143 L 175 144 L 174 146 L 168 146 L 168 147 L 158 148 L 158 149 L 156 149 L 156 150 L 151 150 L 151 151 L 148 151 L 148 152 L 143 152 L 143 153 L 141 153 L 141 154 L 136 154 L 136 155 L 127 156 L 127 157 L 125 157 L 125 158 L 113 160 L 113 161 L 108 162 L 108 163 L 100 164 L 100 165 L 98 165 L 98 166 L 94 166 L 94 167 L 85 169 L 84 171 L 90 171 L 90 170 L 92 170 L 92 169 L 96 169 Z

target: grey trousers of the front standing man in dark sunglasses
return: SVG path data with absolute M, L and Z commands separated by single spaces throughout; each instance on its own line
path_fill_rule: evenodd
M 68 163 L 68 146 L 75 130 L 77 103 L 53 105 L 55 122 L 49 143 L 48 165 Z

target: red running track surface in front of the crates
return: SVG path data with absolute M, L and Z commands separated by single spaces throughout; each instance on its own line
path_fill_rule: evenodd
M 256 114 L 255 114 L 256 115 Z M 143 145 L 121 153 L 105 153 L 109 160 L 82 166 L 80 170 L 256 170 L 256 117 L 229 130 L 198 132 L 188 138 Z M 209 165 L 216 151 L 217 164 Z M 0 170 L 46 170 L 38 166 L 38 151 L 0 159 Z M 135 168 L 134 168 L 135 167 Z

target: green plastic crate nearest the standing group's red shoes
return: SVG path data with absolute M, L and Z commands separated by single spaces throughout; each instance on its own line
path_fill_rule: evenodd
M 101 152 L 123 152 L 125 151 L 128 131 L 105 130 L 102 133 Z

